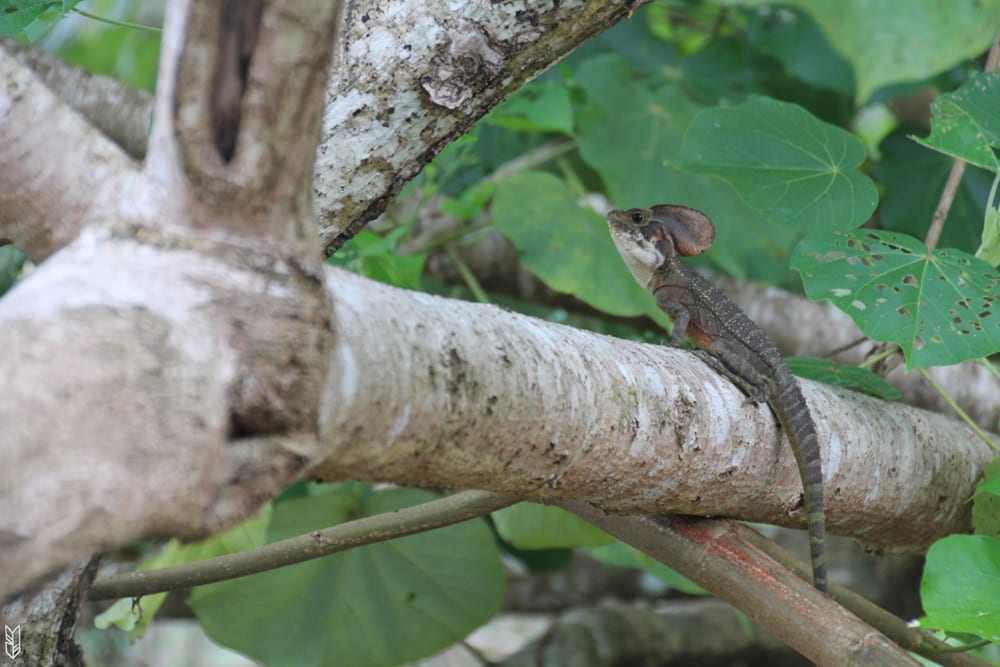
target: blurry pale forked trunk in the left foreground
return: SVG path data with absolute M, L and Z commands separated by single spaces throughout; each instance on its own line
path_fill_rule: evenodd
M 191 128 L 175 125 L 175 112 L 193 126 L 211 115 L 196 103 L 174 104 L 175 94 L 188 99 L 178 63 L 213 53 L 225 42 L 218 33 L 233 27 L 216 22 L 215 33 L 196 27 L 189 34 L 192 7 L 204 20 L 218 4 L 171 5 L 157 124 L 141 176 L 130 162 L 118 165 L 120 173 L 108 177 L 118 187 L 108 195 L 115 206 L 101 224 L 0 302 L 0 349 L 10 351 L 0 357 L 0 374 L 18 388 L 18 398 L 0 406 L 0 453 L 23 464 L 0 473 L 9 509 L 0 542 L 12 555 L 4 561 L 11 570 L 5 592 L 137 535 L 218 529 L 254 511 L 318 457 L 330 302 L 319 252 L 302 233 L 314 223 L 305 165 L 315 154 L 339 3 L 270 0 L 249 21 L 259 31 L 251 40 L 253 80 L 238 91 L 234 159 L 224 165 L 224 151 L 214 163 L 204 154 L 182 159 Z M 246 10 L 239 2 L 232 7 Z M 13 59 L 3 57 L 0 68 L 0 76 L 20 77 L 0 88 L 13 110 L 0 132 L 23 126 L 32 110 L 37 117 L 37 103 L 30 104 L 37 99 L 77 133 L 114 148 Z M 275 90 L 268 94 L 268 87 Z M 285 120 L 270 123 L 268 114 L 278 113 Z M 266 153 L 274 142 L 287 147 L 283 161 L 256 159 L 255 151 Z M 72 168 L 52 168 L 59 152 L 50 147 L 44 164 L 63 181 L 37 178 L 46 196 L 59 201 L 70 179 L 76 196 L 93 196 Z M 39 156 L 24 157 L 42 164 Z M 219 197 L 211 179 L 197 178 L 208 172 L 215 183 L 242 183 L 240 196 Z M 126 177 L 132 187 L 123 190 Z M 59 205 L 72 208 L 72 200 Z M 63 379 L 53 384 L 57 376 Z M 146 479 L 156 483 L 137 483 Z

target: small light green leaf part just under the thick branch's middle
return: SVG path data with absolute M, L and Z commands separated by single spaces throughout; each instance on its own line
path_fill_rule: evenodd
M 518 503 L 491 516 L 500 537 L 518 549 L 571 549 L 613 541 L 603 530 L 549 505 Z

